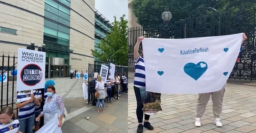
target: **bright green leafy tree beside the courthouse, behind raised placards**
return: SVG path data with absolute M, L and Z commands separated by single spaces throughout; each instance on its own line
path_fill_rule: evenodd
M 98 48 L 101 50 L 91 50 L 92 55 L 100 61 L 111 59 L 117 65 L 128 65 L 128 21 L 120 17 L 120 21 L 114 16 L 113 27 L 105 39 L 101 39 Z

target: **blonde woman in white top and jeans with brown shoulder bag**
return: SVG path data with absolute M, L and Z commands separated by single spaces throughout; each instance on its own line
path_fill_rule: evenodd
M 105 111 L 105 103 L 104 103 L 104 99 L 105 99 L 105 92 L 104 92 L 104 86 L 105 83 L 103 82 L 102 78 L 100 75 L 97 76 L 97 83 L 95 86 L 95 89 L 98 91 L 99 93 L 99 97 L 97 98 L 97 112 L 99 112 L 99 107 L 100 107 L 100 100 L 102 103 L 102 107 L 103 107 L 103 112 Z

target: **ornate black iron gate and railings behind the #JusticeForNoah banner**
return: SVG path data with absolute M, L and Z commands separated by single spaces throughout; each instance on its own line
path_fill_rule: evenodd
M 130 27 L 128 29 L 128 66 L 134 67 L 133 48 L 139 36 L 147 38 L 193 38 L 220 36 L 244 32 L 248 39 L 229 78 L 256 80 L 256 0 L 238 0 L 218 13 L 210 7 L 194 9 L 188 18 L 160 25 Z

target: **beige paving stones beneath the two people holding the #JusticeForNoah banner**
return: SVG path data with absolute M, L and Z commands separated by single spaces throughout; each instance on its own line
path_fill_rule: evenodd
M 131 78 L 129 78 L 131 81 Z M 254 86 L 252 86 L 254 85 Z M 133 84 L 128 85 L 128 132 L 136 133 L 136 98 Z M 143 133 L 256 133 L 256 83 L 249 85 L 227 84 L 220 116 L 223 127 L 213 124 L 212 101 L 207 104 L 201 127 L 194 126 L 197 95 L 162 94 L 162 110 L 151 116 L 149 122 L 154 130 Z

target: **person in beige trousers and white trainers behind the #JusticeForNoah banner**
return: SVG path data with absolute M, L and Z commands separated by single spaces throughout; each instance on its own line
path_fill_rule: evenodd
M 247 37 L 245 33 L 243 33 L 242 43 L 246 39 Z M 212 113 L 214 116 L 214 124 L 217 127 L 222 127 L 222 123 L 220 122 L 219 116 L 221 115 L 221 112 L 222 112 L 222 102 L 223 102 L 225 87 L 226 87 L 226 84 L 219 91 L 198 94 L 198 101 L 197 101 L 196 113 L 195 113 L 196 118 L 195 118 L 195 124 L 194 124 L 196 127 L 201 126 L 200 118 L 203 116 L 205 112 L 205 108 L 210 99 L 210 96 L 212 100 Z

